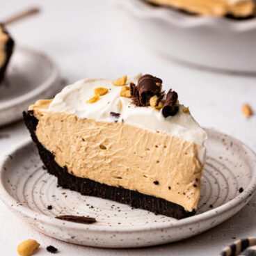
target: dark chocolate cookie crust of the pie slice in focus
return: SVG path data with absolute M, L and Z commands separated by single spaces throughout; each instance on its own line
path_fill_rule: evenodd
M 67 168 L 58 166 L 58 163 L 54 160 L 54 154 L 49 152 L 38 141 L 38 138 L 35 135 L 38 119 L 33 116 L 33 111 L 23 112 L 23 116 L 26 127 L 29 129 L 33 142 L 38 147 L 38 152 L 48 173 L 55 175 L 58 178 L 58 185 L 62 186 L 64 189 L 77 191 L 82 195 L 93 195 L 99 198 L 121 202 L 134 208 L 145 209 L 154 212 L 154 214 L 163 214 L 177 219 L 186 218 L 195 214 L 195 211 L 185 211 L 180 205 L 168 202 L 161 198 L 156 198 L 152 195 L 145 195 L 138 191 L 109 186 L 95 182 L 91 179 L 71 175 L 67 172 Z

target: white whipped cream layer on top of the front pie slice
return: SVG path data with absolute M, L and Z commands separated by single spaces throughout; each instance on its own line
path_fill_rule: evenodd
M 137 83 L 141 74 L 127 78 L 130 82 Z M 164 118 L 161 111 L 151 106 L 135 106 L 130 98 L 120 97 L 121 86 L 113 86 L 115 80 L 84 79 L 66 86 L 58 93 L 48 111 L 72 113 L 79 118 L 89 118 L 104 122 L 125 122 L 129 125 L 141 127 L 154 132 L 164 132 L 177 136 L 197 145 L 203 145 L 207 134 L 190 113 L 184 113 L 184 105 L 179 104 L 179 111 L 175 116 Z M 93 97 L 94 89 L 104 87 L 109 93 L 100 97 L 93 104 L 86 104 L 86 100 Z M 110 113 L 120 113 L 118 120 Z

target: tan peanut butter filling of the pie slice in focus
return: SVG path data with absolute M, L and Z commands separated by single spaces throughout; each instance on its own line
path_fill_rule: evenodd
M 202 146 L 122 122 L 96 122 L 50 112 L 49 100 L 30 106 L 36 136 L 61 167 L 77 177 L 163 198 L 187 211 L 200 198 Z

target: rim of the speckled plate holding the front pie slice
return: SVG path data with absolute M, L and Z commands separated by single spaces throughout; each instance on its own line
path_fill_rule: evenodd
M 234 138 L 233 136 L 227 135 L 222 133 L 221 131 L 216 131 L 216 129 L 209 129 L 205 128 L 207 133 L 213 132 L 214 134 L 220 134 L 221 136 L 225 136 L 226 138 L 230 138 L 233 143 L 237 143 L 240 145 L 242 150 L 246 150 L 247 155 L 252 159 L 253 161 L 250 162 L 250 165 L 252 166 L 252 179 L 250 181 L 250 184 L 248 184 L 247 188 L 243 190 L 243 193 L 237 195 L 235 198 L 230 200 L 229 202 L 226 202 L 225 204 L 216 207 L 214 209 L 210 209 L 209 211 L 206 211 L 202 214 L 198 214 L 195 216 L 191 216 L 189 218 L 183 218 L 181 220 L 176 220 L 174 223 L 161 223 L 161 224 L 155 224 L 151 225 L 150 227 L 142 227 L 142 226 L 131 226 L 131 227 L 109 227 L 109 226 L 98 226 L 98 225 L 83 225 L 81 223 L 71 223 L 68 221 L 65 221 L 65 227 L 70 229 L 76 229 L 76 230 L 87 230 L 90 232 L 97 232 L 97 231 L 104 231 L 104 232 L 145 232 L 145 231 L 152 231 L 152 230 L 166 230 L 168 228 L 177 228 L 184 225 L 189 224 L 195 224 L 201 221 L 207 221 L 209 218 L 213 218 L 216 216 L 220 216 L 222 214 L 225 214 L 226 211 L 230 211 L 231 209 L 238 207 L 243 202 L 246 202 L 244 205 L 246 205 L 251 198 L 253 198 L 253 195 L 256 192 L 256 153 L 248 147 L 248 145 L 244 144 L 243 142 L 239 141 L 237 138 Z M 45 214 L 41 214 L 39 212 L 33 211 L 32 209 L 29 209 L 27 207 L 24 207 L 23 205 L 17 205 L 17 201 L 6 191 L 4 185 L 3 185 L 3 173 L 4 168 L 3 166 L 7 161 L 10 161 L 10 155 L 15 154 L 15 152 L 22 150 L 22 148 L 29 146 L 30 144 L 33 144 L 33 141 L 31 138 L 26 138 L 22 143 L 17 144 L 15 147 L 13 147 L 12 150 L 9 150 L 9 152 L 4 155 L 0 159 L 0 200 L 9 208 L 13 209 L 23 216 L 26 216 L 28 218 L 36 218 L 37 221 L 40 221 L 41 223 L 46 223 L 49 225 L 54 225 L 57 227 L 60 227 L 60 225 L 63 223 L 63 221 L 56 219 L 54 216 L 46 216 Z M 249 199 L 249 200 L 248 200 Z M 243 205 L 243 206 L 244 206 Z M 216 211 L 217 214 L 216 214 Z

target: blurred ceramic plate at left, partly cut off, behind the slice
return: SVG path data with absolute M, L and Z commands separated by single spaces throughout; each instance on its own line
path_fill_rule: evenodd
M 56 65 L 38 51 L 17 47 L 0 85 L 0 126 L 22 118 L 22 111 L 36 99 L 60 90 Z

